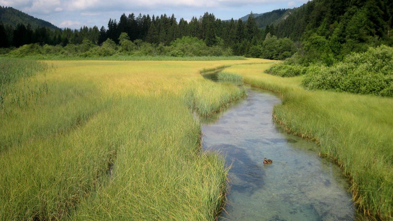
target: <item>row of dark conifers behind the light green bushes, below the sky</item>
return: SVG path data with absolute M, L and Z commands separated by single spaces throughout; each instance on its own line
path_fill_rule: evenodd
M 18 24 L 13 28 L 0 23 L 0 39 L 2 39 L 0 47 L 20 47 L 31 43 L 66 46 L 82 44 L 86 39 L 99 46 L 107 39 L 119 44 L 120 34 L 127 33 L 130 41 L 141 40 L 163 46 L 168 46 L 182 37 L 195 37 L 203 40 L 208 47 L 222 46 L 230 48 L 234 55 L 260 57 L 262 53 L 260 49 L 270 30 L 268 26 L 264 29 L 258 28 L 252 13 L 244 22 L 233 18 L 224 21 L 208 12 L 199 18 L 193 17 L 189 22 L 184 18 L 177 21 L 174 15 L 150 17 L 141 14 L 135 16 L 132 13 L 128 16 L 121 15 L 118 21 L 109 19 L 107 28 L 102 26 L 100 29 L 97 26 L 92 28 L 84 26 L 79 30 L 69 28 L 50 30 L 44 27 L 33 30 L 29 25 Z M 293 42 L 289 39 L 286 42 L 290 42 L 290 45 L 285 44 L 286 53 L 284 57 L 279 56 L 281 59 L 293 53 Z

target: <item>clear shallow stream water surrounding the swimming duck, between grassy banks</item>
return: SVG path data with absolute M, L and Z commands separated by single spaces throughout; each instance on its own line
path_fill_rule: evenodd
M 349 182 L 314 142 L 273 122 L 281 100 L 265 90 L 202 120 L 202 146 L 232 164 L 232 182 L 221 220 L 354 220 Z M 263 158 L 274 160 L 263 164 Z

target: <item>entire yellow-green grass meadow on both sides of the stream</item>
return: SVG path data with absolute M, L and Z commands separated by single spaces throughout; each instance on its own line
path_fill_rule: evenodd
M 2 70 L 7 70 L 2 76 L 14 73 L 1 84 L 0 188 L 7 193 L 0 196 L 1 219 L 109 219 L 122 210 L 128 217 L 150 214 L 173 219 L 184 217 L 186 211 L 194 219 L 213 220 L 224 201 L 229 168 L 216 154 L 201 152 L 200 123 L 190 109 L 210 116 L 241 99 L 246 90 L 201 76 L 210 73 L 281 94 L 283 103 L 274 107 L 274 120 L 289 133 L 315 140 L 321 155 L 343 168 L 352 183 L 354 202 L 365 215 L 392 217 L 391 98 L 306 90 L 301 85 L 304 76 L 263 73 L 274 62 L 263 59 L 0 60 Z M 18 126 L 9 128 L 11 122 Z M 29 160 L 26 153 L 37 159 Z M 33 166 L 36 162 L 42 162 L 38 168 Z M 204 181 L 209 179 L 213 181 Z M 192 199 L 192 207 L 199 209 L 172 204 L 184 199 Z M 140 209 L 133 210 L 136 205 Z

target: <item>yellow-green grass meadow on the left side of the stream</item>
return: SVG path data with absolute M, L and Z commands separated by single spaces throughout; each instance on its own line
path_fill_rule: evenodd
M 214 220 L 227 168 L 192 111 L 245 91 L 200 70 L 250 62 L 267 61 L 46 61 L 12 87 L 48 92 L 4 98 L 0 220 Z

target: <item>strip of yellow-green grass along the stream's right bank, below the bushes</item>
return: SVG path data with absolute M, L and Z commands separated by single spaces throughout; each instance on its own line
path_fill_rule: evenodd
M 299 77 L 265 74 L 270 64 L 238 65 L 224 71 L 244 83 L 281 94 L 275 120 L 299 136 L 320 144 L 349 176 L 354 201 L 383 220 L 393 216 L 393 99 L 330 91 L 309 91 Z

